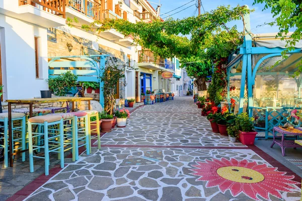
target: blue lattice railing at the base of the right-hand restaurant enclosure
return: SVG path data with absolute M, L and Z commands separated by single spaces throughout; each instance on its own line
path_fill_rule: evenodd
M 272 138 L 274 126 L 283 126 L 288 120 L 294 123 L 294 118 L 290 116 L 290 112 L 294 109 L 301 108 L 294 107 L 250 107 L 249 112 L 255 118 L 255 129 L 258 132 L 265 132 L 265 139 Z M 269 135 L 271 133 L 271 135 Z

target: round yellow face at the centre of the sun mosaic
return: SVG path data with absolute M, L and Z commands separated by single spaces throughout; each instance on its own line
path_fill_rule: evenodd
M 245 167 L 220 167 L 217 169 L 217 174 L 222 178 L 240 183 L 258 183 L 264 180 L 263 174 Z

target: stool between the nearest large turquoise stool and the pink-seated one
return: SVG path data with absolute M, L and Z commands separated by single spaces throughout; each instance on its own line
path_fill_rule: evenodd
M 63 140 L 64 140 L 64 152 L 72 150 L 72 161 L 75 161 L 75 140 L 77 140 L 78 135 L 75 135 L 75 122 L 76 117 L 72 113 L 55 113 L 50 114 L 52 116 L 60 116 L 63 119 Z M 60 155 L 58 155 L 60 159 Z

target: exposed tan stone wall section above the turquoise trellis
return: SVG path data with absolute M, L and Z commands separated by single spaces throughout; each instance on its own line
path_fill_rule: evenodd
M 108 46 L 99 44 L 98 41 L 92 41 L 71 35 L 66 31 L 55 28 L 49 28 L 47 31 L 48 40 L 48 57 L 54 56 L 71 56 L 71 55 L 99 55 L 109 54 L 118 59 L 118 62 L 125 62 L 125 53 Z M 67 43 L 72 44 L 72 51 L 69 52 Z M 124 79 L 120 80 L 119 94 L 120 98 L 125 98 L 125 87 L 123 84 Z

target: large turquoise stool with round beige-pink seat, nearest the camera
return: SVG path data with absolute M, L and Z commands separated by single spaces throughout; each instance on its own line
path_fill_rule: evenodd
M 29 146 L 29 165 L 30 172 L 34 172 L 34 158 L 44 158 L 45 175 L 49 174 L 49 154 L 58 153 L 61 160 L 61 168 L 64 167 L 64 135 L 63 119 L 57 115 L 43 115 L 28 119 L 28 146 Z M 41 126 L 41 131 L 33 132 L 33 126 Z M 43 145 L 34 145 L 33 138 L 44 138 Z M 34 155 L 33 151 L 44 149 L 44 157 Z

